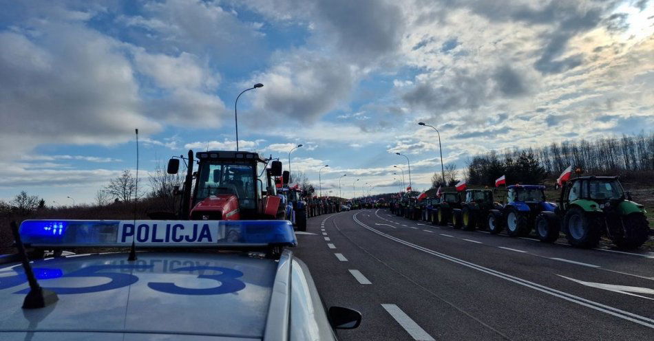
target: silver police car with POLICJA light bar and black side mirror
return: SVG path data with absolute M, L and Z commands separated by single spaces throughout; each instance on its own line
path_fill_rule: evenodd
M 324 308 L 286 249 L 297 244 L 288 221 L 28 220 L 14 230 L 22 252 L 0 259 L 0 340 L 335 340 L 334 329 L 361 322 Z M 89 247 L 109 252 L 25 254 Z

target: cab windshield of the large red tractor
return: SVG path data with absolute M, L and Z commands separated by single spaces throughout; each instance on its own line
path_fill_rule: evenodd
M 200 165 L 197 201 L 211 195 L 231 194 L 238 197 L 241 208 L 254 209 L 257 184 L 255 169 L 248 162 L 204 162 Z

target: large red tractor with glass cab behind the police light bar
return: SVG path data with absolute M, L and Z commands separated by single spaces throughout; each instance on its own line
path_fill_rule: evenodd
M 187 175 L 178 219 L 286 219 L 274 181 L 282 176 L 282 162 L 246 151 L 202 151 L 195 156 L 196 171 L 193 151 L 184 158 L 188 161 Z M 169 174 L 178 173 L 180 159 L 169 160 Z

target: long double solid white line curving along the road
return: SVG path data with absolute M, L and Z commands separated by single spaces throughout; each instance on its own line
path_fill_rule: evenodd
M 578 305 L 582 305 L 584 307 L 588 307 L 588 308 L 594 309 L 596 311 L 602 311 L 605 314 L 609 314 L 611 316 L 615 316 L 617 318 L 622 318 L 623 320 L 628 320 L 628 321 L 637 323 L 638 325 L 642 325 L 642 326 L 654 329 L 654 319 L 647 318 L 645 316 L 640 316 L 640 315 L 637 315 L 637 314 L 633 314 L 633 313 L 631 313 L 629 311 L 624 311 L 622 309 L 611 307 L 609 305 L 603 305 L 602 303 L 598 303 L 598 302 L 595 302 L 593 300 L 588 300 L 586 298 L 582 298 L 582 297 L 579 297 L 579 296 L 576 296 L 576 295 L 573 295 L 573 294 L 569 294 L 567 292 L 562 292 L 560 290 L 553 289 L 553 288 L 547 287 L 545 285 L 540 285 L 538 283 L 527 281 L 527 280 L 525 280 L 523 278 L 520 278 L 520 277 L 511 276 L 511 275 L 505 274 L 503 272 L 498 272 L 497 270 L 492 270 L 489 267 L 483 267 L 483 266 L 477 265 L 475 263 L 470 263 L 468 261 L 463 261 L 463 259 L 458 259 L 456 257 L 449 256 L 447 254 L 443 254 L 441 252 L 436 252 L 436 251 L 430 250 L 428 248 L 423 248 L 420 245 L 416 245 L 416 244 L 410 243 L 408 241 L 405 241 L 403 239 L 396 238 L 394 236 L 391 236 L 390 234 L 383 233 L 383 232 L 381 232 L 379 230 L 376 230 L 375 228 L 371 228 L 370 226 L 368 226 L 368 225 L 366 225 L 364 223 L 361 223 L 361 221 L 359 221 L 359 219 L 357 219 L 357 214 L 353 215 L 352 219 L 354 219 L 354 221 L 356 223 L 358 223 L 359 225 L 363 226 L 363 228 L 366 228 L 366 229 L 368 229 L 368 230 L 370 230 L 370 231 L 372 231 L 372 232 L 374 232 L 376 234 L 379 234 L 380 236 L 383 236 L 383 237 L 385 237 L 387 239 L 390 239 L 392 241 L 395 241 L 397 243 L 401 243 L 403 245 L 406 245 L 406 246 L 408 246 L 410 248 L 414 248 L 416 250 L 425 252 L 427 254 L 431 254 L 432 256 L 436 256 L 436 257 L 439 257 L 441 259 L 451 261 L 452 263 L 456 263 L 456 264 L 459 264 L 459 265 L 463 265 L 465 267 L 469 267 L 470 269 L 477 270 L 478 272 L 483 272 L 483 273 L 489 274 L 491 276 L 502 278 L 505 281 L 513 282 L 513 283 L 516 283 L 518 285 L 523 285 L 524 287 L 529 287 L 529 288 L 534 289 L 534 290 L 536 290 L 538 292 L 542 292 L 543 294 L 548 294 L 548 295 L 551 295 L 551 296 L 554 296 L 554 297 L 558 297 L 558 298 L 561 298 L 562 300 L 567 300 L 567 301 L 569 301 L 571 303 L 576 303 Z

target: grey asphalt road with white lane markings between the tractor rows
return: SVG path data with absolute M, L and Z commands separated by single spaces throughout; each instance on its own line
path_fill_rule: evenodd
M 653 340 L 654 254 L 580 250 L 410 221 L 309 219 L 295 255 L 325 305 L 361 311 L 341 340 Z

